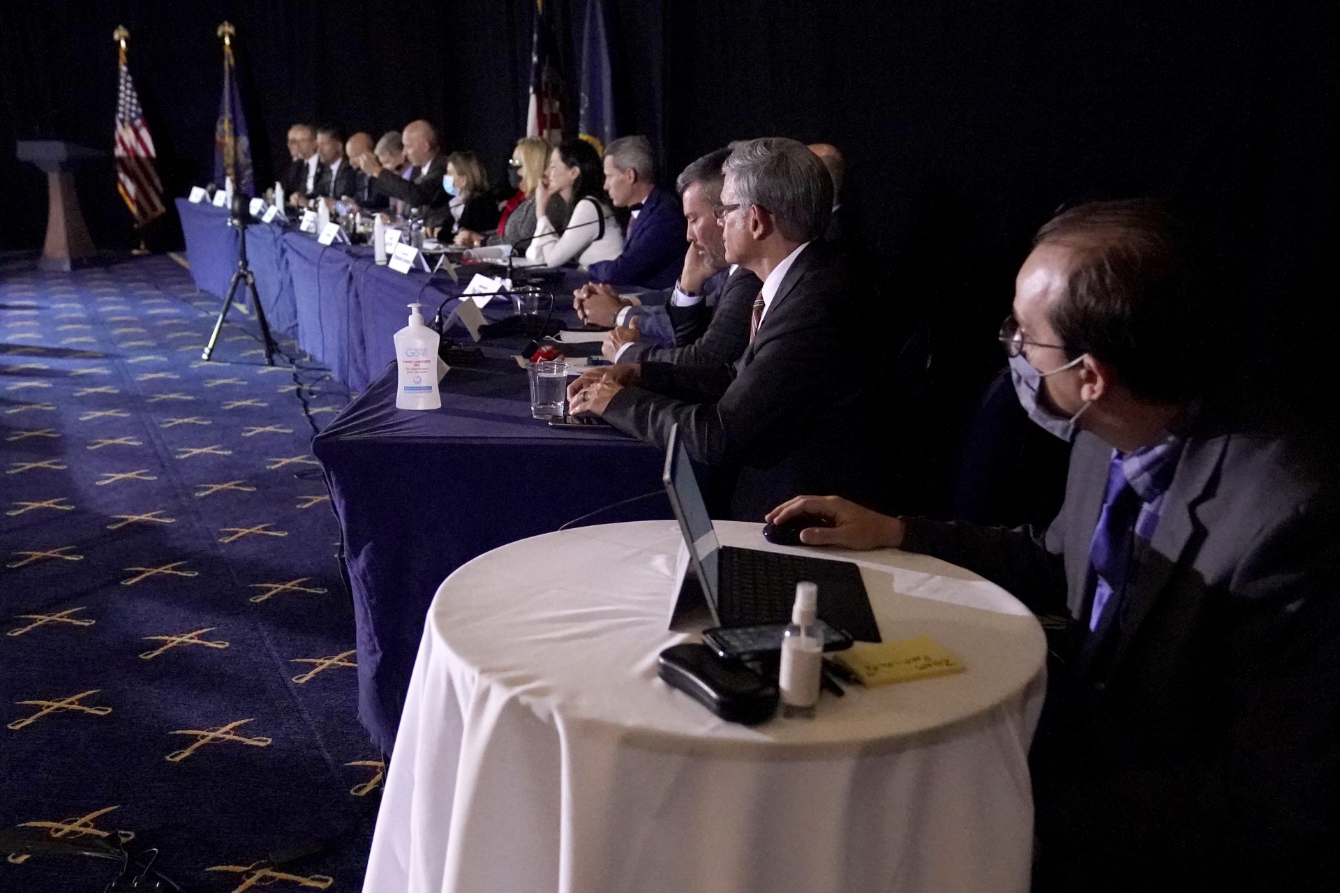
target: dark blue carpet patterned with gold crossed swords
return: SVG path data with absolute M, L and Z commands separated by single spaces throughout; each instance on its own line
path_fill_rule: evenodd
M 382 767 L 308 450 L 348 395 L 237 313 L 201 361 L 218 301 L 170 257 L 31 265 L 0 266 L 0 831 L 359 889 Z M 4 890 L 117 873 L 0 851 Z

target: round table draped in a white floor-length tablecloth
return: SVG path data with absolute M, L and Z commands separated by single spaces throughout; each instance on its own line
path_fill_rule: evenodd
M 674 522 L 494 549 L 429 611 L 368 893 L 1026 890 L 1028 747 L 1045 641 L 1010 594 L 896 550 L 855 558 L 884 641 L 966 672 L 825 695 L 811 720 L 718 720 L 657 677 Z

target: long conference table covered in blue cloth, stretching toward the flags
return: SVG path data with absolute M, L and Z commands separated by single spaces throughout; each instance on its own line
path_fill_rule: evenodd
M 196 285 L 222 297 L 237 269 L 237 230 L 222 209 L 185 199 L 177 209 Z M 453 363 L 441 410 L 397 410 L 391 336 L 405 325 L 405 305 L 422 295 L 425 312 L 448 299 L 450 312 L 461 285 L 397 273 L 368 248 L 324 246 L 284 225 L 248 226 L 247 254 L 276 336 L 295 339 L 358 392 L 314 438 L 312 454 L 340 523 L 359 718 L 390 754 L 442 580 L 476 556 L 590 513 L 591 522 L 669 517 L 665 498 L 649 495 L 659 490 L 662 457 L 608 428 L 555 430 L 531 418 L 525 371 L 512 359 L 520 339 L 486 339 L 480 359 Z M 560 288 L 584 278 L 572 270 Z M 454 335 L 469 340 L 464 329 Z

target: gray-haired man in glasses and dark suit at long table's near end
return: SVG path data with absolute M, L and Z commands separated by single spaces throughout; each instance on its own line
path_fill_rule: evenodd
M 725 165 L 726 260 L 762 281 L 734 364 L 619 363 L 582 375 L 571 410 L 665 447 L 671 428 L 712 473 L 718 517 L 757 521 L 801 482 L 864 493 L 860 398 L 868 376 L 847 272 L 819 244 L 832 206 L 828 173 L 792 139 L 754 139 Z M 793 490 L 792 490 L 793 491 Z M 769 505 L 770 503 L 770 505 Z

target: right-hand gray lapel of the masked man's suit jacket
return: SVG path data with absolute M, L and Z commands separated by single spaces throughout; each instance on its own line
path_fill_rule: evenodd
M 1150 609 L 1163 594 L 1174 568 L 1205 536 L 1203 527 L 1197 523 L 1195 507 L 1218 471 L 1226 449 L 1226 436 L 1206 440 L 1193 438 L 1183 449 L 1172 485 L 1163 501 L 1159 525 L 1154 529 L 1154 538 L 1146 546 L 1139 570 L 1122 604 L 1122 613 L 1118 617 L 1119 637 L 1112 653 L 1114 667 L 1126 653 L 1127 645 Z

